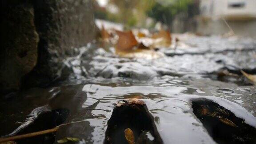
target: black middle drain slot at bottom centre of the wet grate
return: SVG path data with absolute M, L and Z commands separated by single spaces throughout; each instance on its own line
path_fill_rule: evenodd
M 124 136 L 127 128 L 132 130 L 136 144 L 163 144 L 145 104 L 124 104 L 116 107 L 108 120 L 104 144 L 128 144 Z M 148 139 L 147 133 L 152 140 Z

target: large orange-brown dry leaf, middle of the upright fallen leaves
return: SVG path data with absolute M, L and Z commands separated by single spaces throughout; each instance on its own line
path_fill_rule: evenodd
M 132 31 L 121 32 L 116 30 L 119 39 L 116 43 L 116 51 L 129 51 L 138 44 Z

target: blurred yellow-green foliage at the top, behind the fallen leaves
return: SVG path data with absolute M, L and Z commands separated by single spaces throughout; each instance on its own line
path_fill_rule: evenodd
M 145 26 L 147 17 L 169 25 L 180 12 L 189 12 L 193 0 L 109 0 L 108 5 L 118 8 L 117 13 L 96 12 L 99 19 L 123 23 L 125 27 Z

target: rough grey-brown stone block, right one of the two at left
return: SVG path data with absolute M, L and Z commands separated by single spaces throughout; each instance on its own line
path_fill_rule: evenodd
M 35 24 L 40 36 L 36 68 L 24 86 L 48 84 L 62 76 L 65 58 L 95 39 L 92 0 L 35 0 Z

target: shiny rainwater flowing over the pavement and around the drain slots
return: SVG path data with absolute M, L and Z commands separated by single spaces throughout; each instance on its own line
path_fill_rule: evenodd
M 158 59 L 120 58 L 114 48 L 97 44 L 78 49 L 80 55 L 64 62 L 72 71 L 68 80 L 31 88 L 0 102 L 0 135 L 85 120 L 63 126 L 55 139 L 45 136 L 43 141 L 75 137 L 81 144 L 102 144 L 116 104 L 133 98 L 144 101 L 164 144 L 216 143 L 193 112 L 194 100 L 210 100 L 256 128 L 256 88 L 240 74 L 240 69 L 256 72 L 255 41 L 184 37 L 176 50 L 160 48 L 164 55 Z M 222 71 L 235 76 L 220 76 Z M 44 120 L 34 122 L 40 116 Z M 32 123 L 38 123 L 37 128 L 23 130 Z M 147 136 L 155 139 L 153 133 Z

